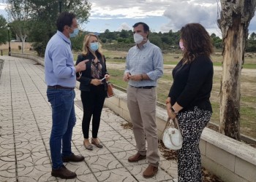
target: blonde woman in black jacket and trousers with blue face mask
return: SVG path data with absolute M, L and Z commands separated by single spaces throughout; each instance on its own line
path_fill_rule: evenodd
M 105 82 L 110 79 L 106 68 L 106 60 L 99 50 L 98 37 L 94 33 L 89 33 L 83 40 L 83 52 L 78 55 L 76 65 L 82 60 L 89 60 L 86 63 L 86 70 L 77 75 L 80 82 L 81 100 L 83 103 L 83 145 L 88 150 L 92 150 L 91 143 L 102 148 L 102 144 L 97 138 L 99 130 L 100 116 L 107 94 Z M 102 80 L 105 78 L 104 80 Z M 89 142 L 89 126 L 92 118 L 92 138 Z

